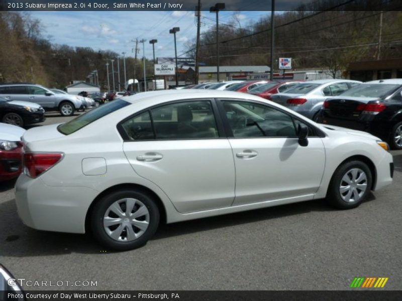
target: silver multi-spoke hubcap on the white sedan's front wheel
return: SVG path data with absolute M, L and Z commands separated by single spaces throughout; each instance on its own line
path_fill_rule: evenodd
M 355 203 L 361 199 L 366 189 L 366 174 L 361 169 L 354 168 L 343 176 L 339 187 L 339 193 L 345 202 Z

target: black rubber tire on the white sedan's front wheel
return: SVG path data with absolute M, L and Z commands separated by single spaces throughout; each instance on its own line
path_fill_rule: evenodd
M 356 190 L 359 195 L 360 195 L 360 193 L 362 193 L 361 196 L 359 197 L 359 199 L 356 201 L 356 200 L 354 200 L 354 198 L 352 198 L 351 200 L 349 200 L 349 202 L 347 202 L 347 201 L 345 201 L 345 199 L 347 199 L 347 192 L 345 191 L 344 196 L 342 196 L 340 189 L 341 189 L 342 184 L 344 187 L 345 186 L 347 187 L 347 183 L 344 182 L 342 180 L 342 178 L 344 176 L 346 176 L 349 173 L 349 171 L 351 171 L 352 169 L 358 169 L 358 170 L 364 172 L 364 174 L 366 176 L 366 180 L 365 181 L 363 180 L 358 183 L 360 183 L 360 184 L 365 183 L 366 189 L 364 192 L 362 190 L 360 190 L 360 191 Z M 360 174 L 361 173 L 358 173 L 357 175 L 360 176 Z M 332 206 L 334 206 L 338 209 L 356 208 L 367 197 L 367 195 L 371 189 L 371 183 L 372 183 L 371 171 L 364 162 L 361 162 L 361 161 L 346 162 L 346 163 L 342 164 L 341 166 L 339 166 L 337 168 L 337 170 L 335 171 L 334 175 L 332 176 L 332 179 L 331 179 L 330 185 L 328 187 L 328 191 L 327 191 L 327 200 Z M 355 184 L 352 184 L 352 185 L 355 185 Z M 351 185 L 349 185 L 349 187 L 350 186 Z

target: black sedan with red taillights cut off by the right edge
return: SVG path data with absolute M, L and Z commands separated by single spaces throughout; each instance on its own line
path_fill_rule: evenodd
M 318 121 L 366 131 L 402 149 L 402 79 L 362 83 L 328 98 Z

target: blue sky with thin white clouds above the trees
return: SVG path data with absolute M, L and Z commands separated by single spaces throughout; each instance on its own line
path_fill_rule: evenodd
M 219 13 L 220 23 L 227 23 L 237 15 L 241 27 L 251 21 L 258 21 L 270 12 L 228 12 Z M 95 51 L 111 50 L 118 54 L 134 56 L 135 39 L 145 39 L 145 56 L 152 58 L 149 40 L 157 39 L 155 57 L 174 57 L 173 35 L 169 29 L 180 27 L 176 33 L 177 55 L 186 51 L 187 41 L 195 39 L 196 23 L 194 12 L 152 11 L 152 12 L 31 12 L 41 21 L 43 36 L 54 44 L 71 47 L 91 47 Z M 216 24 L 215 14 L 202 12 L 201 32 Z M 143 57 L 143 45 L 139 43 L 139 58 Z M 182 57 L 185 57 L 182 56 Z

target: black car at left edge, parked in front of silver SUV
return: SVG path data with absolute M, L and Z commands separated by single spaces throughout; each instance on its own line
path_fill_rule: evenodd
M 25 126 L 45 121 L 45 110 L 36 103 L 0 97 L 0 121 Z

